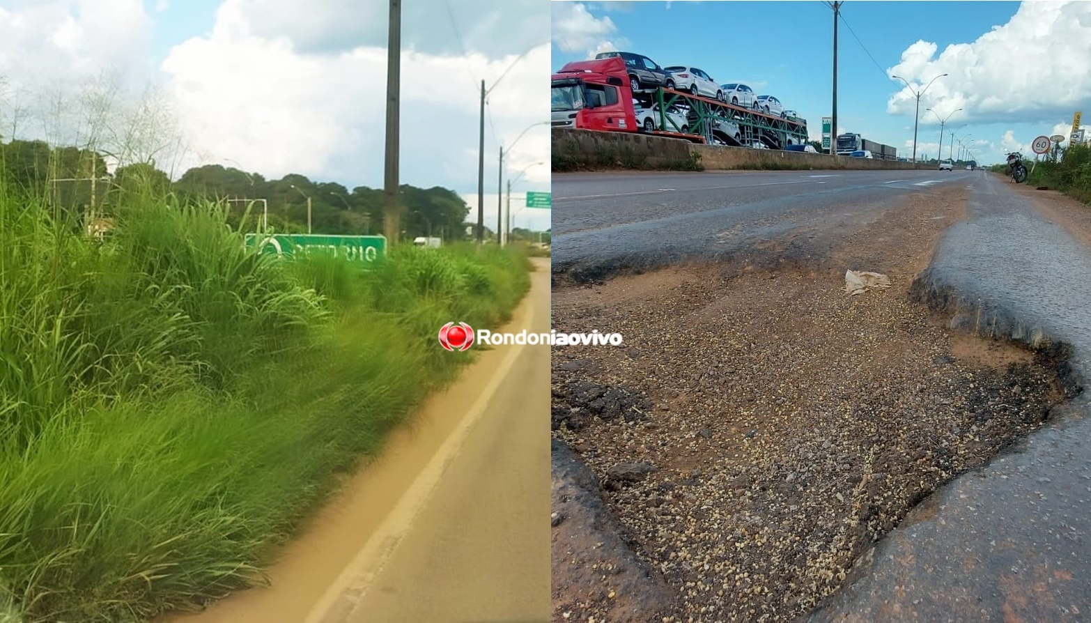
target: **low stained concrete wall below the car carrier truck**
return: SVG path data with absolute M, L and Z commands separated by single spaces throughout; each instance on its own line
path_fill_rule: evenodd
M 913 169 L 912 163 L 839 157 L 825 154 L 702 145 L 684 139 L 553 129 L 553 170 L 635 169 Z M 921 165 L 923 167 L 923 165 Z

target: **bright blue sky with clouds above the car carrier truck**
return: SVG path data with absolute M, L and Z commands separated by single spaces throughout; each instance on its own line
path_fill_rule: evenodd
M 721 84 L 777 96 L 820 139 L 832 87 L 834 11 L 824 2 L 562 0 L 552 8 L 554 70 L 606 49 L 644 53 L 661 67 L 688 63 Z M 935 157 L 939 142 L 930 107 L 949 116 L 944 157 L 956 129 L 955 155 L 966 136 L 985 164 L 1011 149 L 1030 154 L 1034 136 L 1067 135 L 1077 109 L 1091 113 L 1091 2 L 850 0 L 840 13 L 840 132 L 912 154 L 915 97 L 890 74 L 916 91 L 949 74 L 921 97 L 919 158 Z

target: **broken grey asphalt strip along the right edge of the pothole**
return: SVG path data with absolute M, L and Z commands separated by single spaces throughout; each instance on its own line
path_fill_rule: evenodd
M 1067 345 L 1048 424 L 915 508 L 812 623 L 1091 620 L 1091 248 L 990 176 L 922 276 L 964 325 Z M 1048 200 L 1041 200 L 1048 201 Z M 1072 208 L 1070 208 L 1072 209 Z M 1082 206 L 1075 209 L 1083 211 Z M 1076 226 L 1074 226 L 1076 227 Z

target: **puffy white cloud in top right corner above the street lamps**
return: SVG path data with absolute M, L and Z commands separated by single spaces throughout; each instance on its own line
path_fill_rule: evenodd
M 952 121 L 1050 122 L 1091 98 L 1091 2 L 1023 2 L 1007 24 L 972 44 L 948 46 L 938 57 L 937 49 L 916 41 L 888 73 L 918 91 L 947 73 L 922 95 L 921 110 L 947 115 L 962 108 Z M 903 87 L 887 110 L 912 115 L 915 104 Z

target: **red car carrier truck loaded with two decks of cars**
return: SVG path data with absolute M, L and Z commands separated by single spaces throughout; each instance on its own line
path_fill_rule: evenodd
M 642 132 L 730 146 L 760 142 L 772 149 L 807 142 L 803 119 L 781 119 L 670 88 L 633 92 L 625 62 L 616 57 L 567 63 L 552 75 L 551 86 L 553 128 Z

